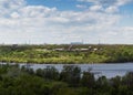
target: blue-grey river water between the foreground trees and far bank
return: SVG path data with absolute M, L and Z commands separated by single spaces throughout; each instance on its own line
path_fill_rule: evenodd
M 23 64 L 21 64 L 23 65 Z M 45 68 L 47 66 L 54 66 L 59 72 L 63 68 L 64 64 L 32 64 L 30 67 L 33 70 Z M 70 65 L 70 64 L 65 64 Z M 71 64 L 75 65 L 75 64 Z M 116 75 L 123 76 L 127 72 L 133 72 L 133 63 L 112 63 L 112 64 L 76 64 L 81 67 L 81 71 L 91 70 L 96 77 L 105 75 L 108 78 L 114 77 Z

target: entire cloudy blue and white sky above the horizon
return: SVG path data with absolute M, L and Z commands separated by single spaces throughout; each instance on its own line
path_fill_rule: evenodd
M 133 0 L 0 0 L 0 44 L 133 44 Z

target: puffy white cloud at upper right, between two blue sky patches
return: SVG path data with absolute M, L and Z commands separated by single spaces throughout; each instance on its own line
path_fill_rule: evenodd
M 104 8 L 108 13 L 114 13 L 119 11 L 119 7 L 133 2 L 133 0 L 78 0 L 81 2 L 92 2 L 94 6 L 90 7 L 92 10 L 99 10 Z

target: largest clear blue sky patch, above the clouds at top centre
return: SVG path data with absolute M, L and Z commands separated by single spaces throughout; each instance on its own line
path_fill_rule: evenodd
M 64 11 L 64 10 L 80 11 L 81 10 L 76 8 L 76 4 L 79 4 L 76 0 L 27 0 L 27 1 L 28 1 L 28 4 L 32 4 L 32 6 L 45 6 L 49 8 L 55 7 L 60 11 Z M 80 3 L 83 3 L 83 2 L 80 2 Z

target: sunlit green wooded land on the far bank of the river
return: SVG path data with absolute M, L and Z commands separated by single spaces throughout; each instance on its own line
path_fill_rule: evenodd
M 133 62 L 133 45 L 0 45 L 0 62 L 39 64 L 126 63 Z

